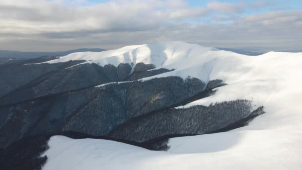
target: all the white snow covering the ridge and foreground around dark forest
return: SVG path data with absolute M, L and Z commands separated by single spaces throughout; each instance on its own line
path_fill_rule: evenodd
M 302 170 L 302 53 L 246 56 L 184 42 L 128 46 L 100 53 L 70 54 L 48 63 L 86 60 L 101 66 L 144 62 L 187 76 L 228 85 L 182 107 L 235 99 L 252 100 L 266 113 L 228 132 L 169 140 L 168 152 L 96 139 L 54 136 L 44 170 Z M 91 61 L 88 61 L 91 60 Z M 103 87 L 103 86 L 102 86 Z

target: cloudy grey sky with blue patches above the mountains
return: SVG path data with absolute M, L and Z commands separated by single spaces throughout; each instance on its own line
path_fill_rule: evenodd
M 0 49 L 158 41 L 302 50 L 302 0 L 0 0 Z

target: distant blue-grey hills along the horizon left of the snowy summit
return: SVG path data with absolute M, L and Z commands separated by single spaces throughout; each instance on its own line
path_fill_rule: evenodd
M 7 59 L 32 59 L 41 56 L 66 56 L 71 53 L 76 52 L 84 52 L 84 51 L 91 51 L 91 52 L 101 52 L 105 51 L 104 49 L 100 48 L 80 48 L 75 50 L 69 51 L 58 51 L 58 52 L 21 52 L 21 51 L 6 51 L 0 50 L 0 58 L 7 58 Z

